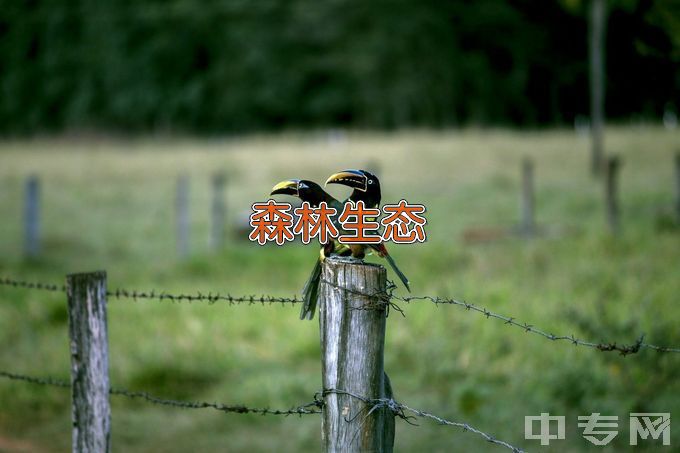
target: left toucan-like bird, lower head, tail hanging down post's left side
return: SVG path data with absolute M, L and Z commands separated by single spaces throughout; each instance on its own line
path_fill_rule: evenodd
M 313 208 L 319 207 L 322 202 L 325 202 L 329 208 L 337 210 L 339 215 L 342 212 L 343 205 L 338 200 L 333 198 L 320 185 L 308 179 L 287 179 L 276 184 L 269 195 L 291 195 L 299 198 L 303 202 L 309 203 Z M 334 224 L 337 221 L 337 216 L 334 218 Z M 335 224 L 339 228 L 339 224 Z M 300 309 L 300 319 L 314 318 L 316 311 L 316 302 L 319 296 L 319 283 L 321 281 L 321 264 L 326 257 L 331 254 L 340 256 L 351 255 L 351 250 L 348 246 L 340 242 L 330 239 L 327 243 L 321 244 L 319 250 L 319 259 L 314 263 L 314 268 L 309 278 L 302 288 L 302 308 Z

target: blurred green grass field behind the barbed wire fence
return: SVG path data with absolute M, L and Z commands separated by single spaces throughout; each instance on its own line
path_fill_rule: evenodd
M 624 160 L 622 232 L 605 228 L 588 143 L 571 131 L 288 134 L 230 140 L 34 139 L 0 143 L 0 275 L 60 283 L 105 269 L 109 286 L 292 296 L 316 258 L 298 244 L 259 247 L 237 220 L 284 178 L 377 165 L 383 201 L 428 208 L 428 242 L 393 246 L 414 294 L 465 299 L 556 334 L 680 345 L 680 232 L 660 228 L 674 202 L 680 134 L 607 131 Z M 470 227 L 518 220 L 521 158 L 535 161 L 538 222 L 554 238 L 465 244 Z M 210 176 L 229 175 L 226 246 L 207 247 Z M 191 178 L 191 256 L 175 253 L 176 176 Z M 24 178 L 42 182 L 43 253 L 22 257 Z M 330 190 L 346 194 L 342 187 Z M 663 223 L 663 222 L 661 222 Z M 668 223 L 668 222 L 666 222 Z M 369 258 L 374 260 L 374 258 Z M 397 290 L 403 294 L 403 289 Z M 552 343 L 453 306 L 413 303 L 388 319 L 395 397 L 531 451 L 628 450 L 628 414 L 680 410 L 680 355 L 621 357 Z M 316 321 L 316 318 L 315 318 Z M 288 408 L 319 390 L 317 322 L 298 308 L 149 301 L 109 303 L 113 385 L 179 399 Z M 63 295 L 0 287 L 0 369 L 67 377 Z M 112 399 L 113 448 L 126 452 L 318 451 L 320 418 L 224 415 Z M 0 381 L 0 451 L 67 451 L 68 391 Z M 567 439 L 524 440 L 524 416 L 567 416 Z M 581 437 L 578 415 L 618 415 L 607 448 Z M 397 451 L 502 451 L 471 433 L 397 421 Z M 679 429 L 672 444 L 680 445 Z M 642 441 L 653 451 L 657 441 Z M 671 447 L 677 448 L 677 447 Z M 637 451 L 637 450 L 636 450 Z M 670 451 L 670 450 L 669 450 Z

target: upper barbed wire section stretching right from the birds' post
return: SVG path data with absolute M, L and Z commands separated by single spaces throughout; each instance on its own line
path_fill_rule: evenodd
M 585 341 L 585 340 L 580 340 L 576 338 L 574 335 L 555 335 L 553 333 L 549 333 L 546 331 L 543 331 L 541 329 L 538 329 L 534 327 L 531 324 L 528 323 L 522 323 L 517 321 L 514 317 L 511 316 L 505 316 L 501 315 L 498 313 L 494 313 L 492 311 L 487 310 L 484 307 L 477 306 L 475 304 L 471 304 L 465 301 L 460 301 L 456 299 L 450 299 L 450 298 L 441 298 L 441 297 L 433 297 L 433 296 L 391 296 L 395 300 L 401 300 L 406 303 L 410 303 L 411 301 L 430 301 L 435 305 L 456 305 L 459 307 L 463 307 L 466 310 L 474 311 L 477 313 L 481 313 L 482 315 L 486 316 L 487 318 L 495 318 L 503 321 L 505 324 L 509 324 L 514 327 L 519 327 L 520 329 L 524 330 L 525 332 L 533 333 L 536 335 L 540 335 L 544 338 L 547 338 L 548 340 L 551 341 L 568 341 L 574 346 L 585 346 L 588 348 L 594 348 L 599 351 L 617 351 L 621 355 L 626 356 L 628 354 L 636 354 L 640 352 L 641 349 L 652 349 L 658 352 L 680 352 L 680 348 L 669 348 L 665 346 L 656 346 L 652 345 L 649 343 L 645 343 L 644 340 L 644 334 L 641 335 L 634 343 L 631 344 L 617 344 L 617 343 L 596 343 L 593 341 Z

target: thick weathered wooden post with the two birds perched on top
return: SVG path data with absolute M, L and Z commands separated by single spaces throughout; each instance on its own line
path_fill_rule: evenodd
M 324 261 L 319 327 L 326 452 L 392 451 L 394 414 L 387 408 L 371 412 L 372 405 L 360 399 L 392 396 L 383 364 L 387 308 L 370 296 L 384 294 L 386 282 L 382 266 L 339 257 Z

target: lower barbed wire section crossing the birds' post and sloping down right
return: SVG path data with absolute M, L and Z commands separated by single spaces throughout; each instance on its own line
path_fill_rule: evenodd
M 505 441 L 496 439 L 494 436 L 487 434 L 484 431 L 481 431 L 481 430 L 469 425 L 468 423 L 454 422 L 454 421 L 451 421 L 451 420 L 446 420 L 442 417 L 438 417 L 438 416 L 431 414 L 429 412 L 414 409 L 410 406 L 407 406 L 406 404 L 399 403 L 392 398 L 374 398 L 374 399 L 371 399 L 371 398 L 366 398 L 366 397 L 361 396 L 361 395 L 357 395 L 356 393 L 352 393 L 352 392 L 349 392 L 347 390 L 340 390 L 340 389 L 325 389 L 325 390 L 323 390 L 322 395 L 325 396 L 325 395 L 330 394 L 330 393 L 335 393 L 335 394 L 339 394 L 339 395 L 348 395 L 348 396 L 351 396 L 353 398 L 357 398 L 357 399 L 363 401 L 369 407 L 368 412 L 367 412 L 367 416 L 368 416 L 368 414 L 371 414 L 372 412 L 374 412 L 378 409 L 387 408 L 395 415 L 395 417 L 399 417 L 399 418 L 403 419 L 404 421 L 406 421 L 407 423 L 409 423 L 411 425 L 414 424 L 412 422 L 414 416 L 422 417 L 422 418 L 429 418 L 431 420 L 436 421 L 440 425 L 454 426 L 454 427 L 462 428 L 463 431 L 469 431 L 471 433 L 475 433 L 475 434 L 483 437 L 487 442 L 508 448 L 515 453 L 524 453 L 524 450 L 517 448 L 517 447 L 514 447 L 514 446 L 510 445 L 509 443 L 507 443 Z M 408 415 L 407 413 L 411 413 L 413 415 Z

